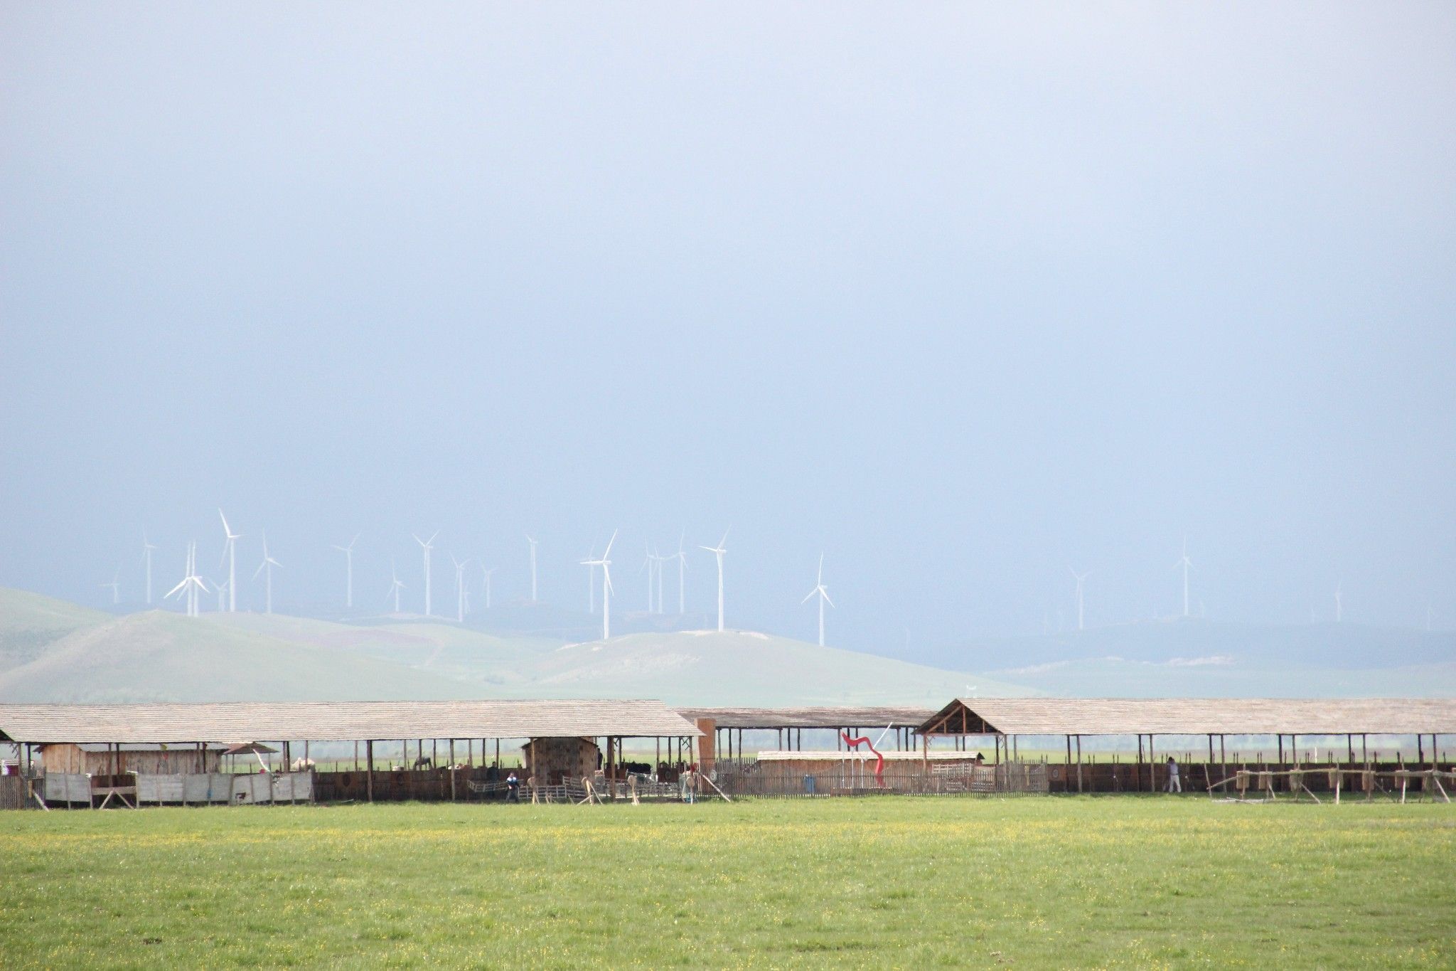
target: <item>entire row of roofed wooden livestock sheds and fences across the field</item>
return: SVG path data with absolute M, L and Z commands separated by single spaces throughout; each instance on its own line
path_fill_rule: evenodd
M 878 719 L 884 728 L 862 734 Z M 1334 734 L 1340 728 L 1348 731 Z M 22 805 L 33 793 L 55 805 L 102 806 L 507 798 L 514 792 L 502 780 L 502 735 L 492 744 L 491 732 L 521 737 L 523 795 L 546 801 L 1156 792 L 1174 776 L 1171 754 L 1185 790 L 1241 799 L 1334 792 L 1337 799 L 1404 801 L 1414 793 L 1444 801 L 1456 774 L 1443 763 L 1440 742 L 1453 728 L 1456 702 L 1430 699 L 957 699 L 938 712 L 673 712 L 657 702 L 571 700 L 0 706 L 0 734 L 26 750 Z M 406 731 L 384 742 L 386 753 L 376 751 L 386 734 Z M 744 734 L 754 731 L 785 747 L 745 753 Z M 837 748 L 805 750 L 805 731 L 831 732 Z M 1045 745 L 1054 732 L 1064 732 L 1063 757 L 1022 754 L 1022 742 Z M 1200 740 L 1192 732 L 1206 734 Z M 1239 732 L 1235 742 L 1249 741 L 1245 732 L 1267 732 L 1270 744 L 1229 751 L 1230 732 Z M 1377 744 L 1396 740 L 1414 751 L 1372 748 L 1372 732 Z M 208 741 L 178 741 L 189 735 Z M 307 740 L 351 735 L 363 737 L 352 742 L 352 763 L 336 760 L 316 772 Z M 277 745 L 285 769 L 301 747 L 297 772 L 264 766 L 261 753 L 275 750 L 262 737 L 294 740 Z M 106 738 L 115 741 L 100 741 Z M 218 773 L 218 738 L 252 740 L 227 748 L 237 754 L 226 766 L 236 769 L 242 757 L 246 769 L 256 758 L 266 769 L 256 773 L 261 779 Z M 638 751 L 649 747 L 651 761 L 630 761 L 625 738 Z M 1136 738 L 1136 751 L 1085 757 L 1089 738 Z M 1198 741 L 1204 745 L 1191 750 Z M 700 772 L 692 772 L 693 763 Z

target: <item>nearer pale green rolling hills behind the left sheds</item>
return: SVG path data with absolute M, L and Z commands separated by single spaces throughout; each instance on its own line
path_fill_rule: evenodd
M 17 630 L 29 630 L 33 617 L 44 616 L 58 617 L 57 630 L 71 629 L 36 657 L 0 668 L 0 700 L 7 702 L 658 697 L 678 705 L 933 706 L 973 689 L 1028 693 L 751 632 L 633 633 L 563 645 L 440 619 L 345 625 L 250 613 L 93 617 L 13 594 L 0 629 L 15 619 Z

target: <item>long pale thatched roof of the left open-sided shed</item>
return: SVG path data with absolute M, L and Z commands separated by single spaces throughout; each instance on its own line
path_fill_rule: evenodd
M 19 742 L 364 741 L 697 735 L 661 702 L 217 702 L 0 705 Z

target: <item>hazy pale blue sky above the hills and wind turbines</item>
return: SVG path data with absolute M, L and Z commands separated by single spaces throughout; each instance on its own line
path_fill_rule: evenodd
M 1456 626 L 1456 7 L 0 6 L 0 585 Z M 239 582 L 261 604 L 261 581 Z M 668 601 L 674 584 L 667 585 Z M 408 594 L 406 594 L 408 598 Z

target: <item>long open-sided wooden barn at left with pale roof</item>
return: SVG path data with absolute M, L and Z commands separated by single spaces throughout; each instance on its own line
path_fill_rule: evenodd
M 657 738 L 680 742 L 696 740 L 697 729 L 680 715 L 652 700 L 473 700 L 473 702 L 307 702 L 307 703 L 204 703 L 204 705 L 0 705 L 0 742 L 15 742 L 25 751 L 25 769 L 32 780 L 48 777 L 47 790 L 64 795 L 66 802 L 87 802 L 82 795 L 105 790 L 106 798 L 135 805 L 141 793 L 178 793 L 172 801 L 249 801 L 278 798 L 294 801 L 298 786 L 288 782 L 280 795 L 277 782 L 261 788 L 250 783 L 239 795 L 237 782 L 210 780 L 188 785 L 183 776 L 215 773 L 218 744 L 230 751 L 248 751 L 258 742 L 275 742 L 282 761 L 291 761 L 291 745 L 303 742 L 355 742 L 363 760 L 352 770 L 307 772 L 307 796 L 329 799 L 454 799 L 472 789 L 470 783 L 492 783 L 499 777 L 499 742 L 530 740 L 536 753 L 571 748 L 569 766 L 575 770 L 594 763 L 606 751 L 604 780 L 614 792 L 625 779 L 623 738 Z M 425 756 L 425 741 L 430 756 Z M 416 758 L 406 766 L 376 757 L 376 745 L 393 744 L 408 753 L 411 742 Z M 443 745 L 441 745 L 443 742 Z M 486 744 L 495 744 L 495 758 L 486 757 Z M 440 748 L 444 751 L 441 753 Z M 50 750 L 52 763 L 47 763 Z M 105 750 L 112 761 L 105 774 L 89 773 L 92 751 Z M 162 753 L 201 753 L 198 764 L 176 764 Z M 130 753 L 138 761 L 127 766 L 118 756 Z M 143 757 L 141 753 L 151 753 Z M 443 764 L 437 764 L 437 754 Z M 479 760 L 476 760 L 479 754 Z M 39 756 L 39 758 L 36 758 Z M 591 766 L 596 770 L 596 766 Z M 167 769 L 153 773 L 153 769 Z M 312 769 L 312 766 L 309 766 Z M 181 779 L 175 785 L 156 785 L 151 774 Z M 262 773 L 269 776 L 274 773 Z M 584 773 L 590 774 L 590 773 Z M 67 780 L 61 780 L 67 776 Z M 90 777 L 87 777 L 90 776 Z M 280 773 L 281 776 L 281 773 Z M 543 780 L 545 783 L 545 780 Z M 192 799 L 189 793 L 202 793 Z

